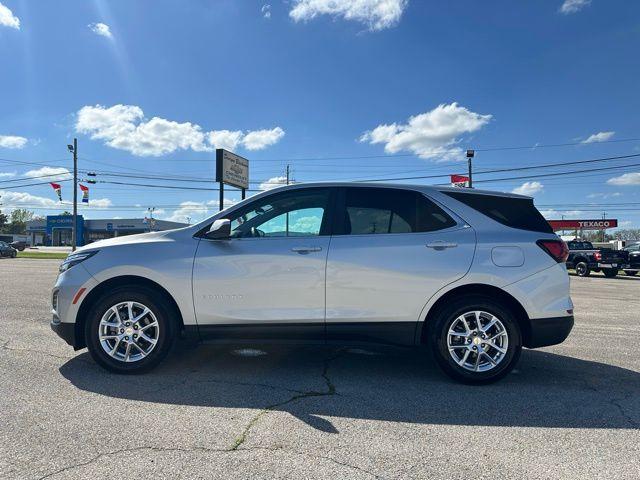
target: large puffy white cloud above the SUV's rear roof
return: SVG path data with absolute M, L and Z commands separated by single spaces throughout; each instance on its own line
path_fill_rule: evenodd
M 475 132 L 491 120 L 459 106 L 440 104 L 433 110 L 410 117 L 406 124 L 378 125 L 365 132 L 361 142 L 384 143 L 387 153 L 410 151 L 421 158 L 461 159 L 456 144 L 465 133 Z

